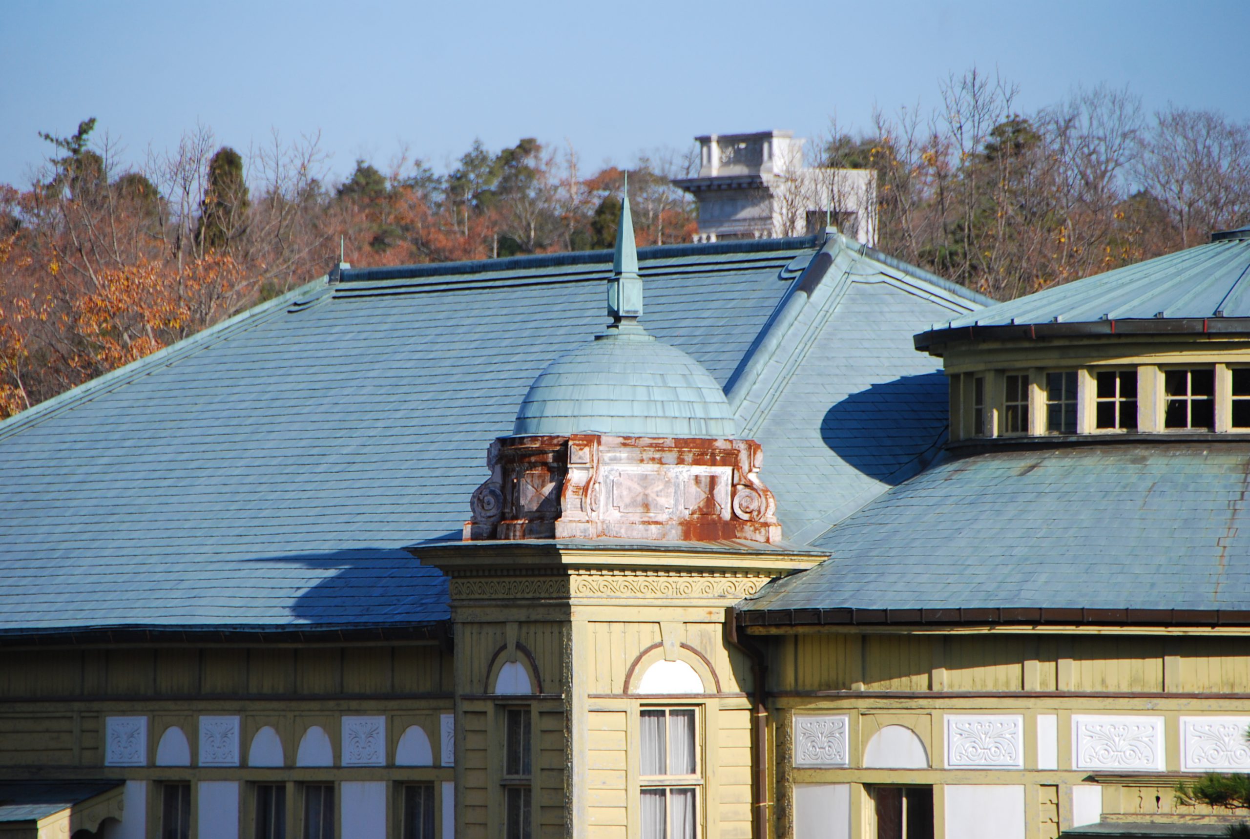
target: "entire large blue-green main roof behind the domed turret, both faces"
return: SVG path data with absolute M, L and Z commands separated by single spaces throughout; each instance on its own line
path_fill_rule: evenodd
M 838 236 L 820 249 L 639 253 L 648 330 L 734 380 L 790 539 L 926 456 L 940 374 L 901 348 L 980 300 Z M 401 548 L 459 538 L 490 440 L 602 330 L 610 265 L 349 270 L 0 423 L 0 633 L 446 619 L 445 579 Z

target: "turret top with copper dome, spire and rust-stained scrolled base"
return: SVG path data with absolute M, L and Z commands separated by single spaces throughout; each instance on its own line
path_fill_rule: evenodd
M 465 540 L 780 541 L 759 443 L 735 436 L 711 374 L 640 323 L 628 191 L 608 315 L 601 335 L 539 374 L 512 434 L 491 444 Z

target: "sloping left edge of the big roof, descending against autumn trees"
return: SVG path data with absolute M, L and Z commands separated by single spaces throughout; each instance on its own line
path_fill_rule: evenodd
M 0 440 L 4 440 L 5 438 L 31 425 L 36 425 L 45 419 L 50 419 L 61 410 L 72 408 L 85 398 L 95 395 L 98 391 L 106 391 L 110 388 L 126 385 L 139 376 L 145 375 L 148 373 L 148 368 L 181 360 L 190 353 L 201 349 L 202 344 L 208 344 L 219 338 L 226 338 L 238 329 L 241 329 L 244 325 L 251 325 L 255 320 L 268 318 L 275 313 L 281 313 L 300 295 L 308 294 L 309 291 L 324 291 L 328 289 L 329 285 L 326 281 L 328 278 L 325 275 L 319 276 L 315 280 L 291 289 L 286 294 L 281 294 L 271 300 L 244 309 L 225 320 L 212 324 L 208 329 L 201 329 L 194 335 L 188 335 L 181 340 L 174 341 L 169 346 L 162 346 L 155 353 L 150 353 L 141 359 L 135 359 L 130 364 L 124 364 L 120 368 L 88 379 L 82 384 L 56 394 L 51 399 L 45 399 L 41 403 L 31 405 L 24 411 L 14 414 L 9 419 L 0 420 Z M 320 289 L 316 288 L 318 284 L 320 284 Z

